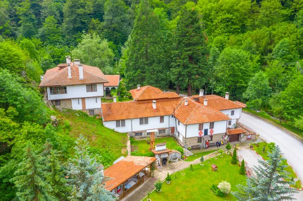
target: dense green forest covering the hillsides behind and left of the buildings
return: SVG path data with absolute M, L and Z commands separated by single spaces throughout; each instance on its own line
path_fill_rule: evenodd
M 116 156 L 75 143 L 42 101 L 40 75 L 65 55 L 121 75 L 128 90 L 228 91 L 303 129 L 302 36 L 303 0 L 0 1 L 1 199 L 111 200 L 91 170 Z

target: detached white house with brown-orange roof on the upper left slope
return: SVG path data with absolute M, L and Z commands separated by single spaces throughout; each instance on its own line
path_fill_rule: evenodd
M 101 110 L 104 84 L 109 83 L 102 71 L 80 63 L 80 59 L 61 63 L 45 72 L 39 87 L 46 88 L 46 98 L 57 108 L 84 110 L 90 115 Z

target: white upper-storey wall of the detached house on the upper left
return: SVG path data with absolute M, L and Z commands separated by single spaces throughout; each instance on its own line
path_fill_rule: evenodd
M 48 100 L 104 96 L 103 84 L 97 84 L 96 92 L 86 92 L 86 85 L 68 85 L 66 87 L 67 87 L 67 94 L 53 94 L 53 95 L 51 95 L 49 91 L 49 87 L 47 87 Z

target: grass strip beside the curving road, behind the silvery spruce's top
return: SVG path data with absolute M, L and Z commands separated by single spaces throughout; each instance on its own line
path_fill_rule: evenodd
M 259 147 L 257 146 L 257 144 L 259 145 Z M 260 154 L 265 160 L 269 160 L 269 157 L 267 156 L 267 154 L 269 152 L 269 148 L 267 147 L 268 143 L 262 142 L 262 143 L 257 143 L 257 144 L 251 144 L 251 145 L 254 146 L 254 150 L 256 152 L 258 152 L 258 154 Z M 265 152 L 262 153 L 262 149 L 263 149 L 264 146 L 265 146 Z M 287 166 L 285 168 L 285 170 L 290 173 L 288 176 L 293 177 L 293 178 L 297 178 L 293 169 L 286 163 L 286 160 L 284 161 L 283 164 Z M 299 180 L 295 182 L 295 185 L 291 185 L 291 186 L 295 187 L 295 188 L 301 188 L 302 187 Z

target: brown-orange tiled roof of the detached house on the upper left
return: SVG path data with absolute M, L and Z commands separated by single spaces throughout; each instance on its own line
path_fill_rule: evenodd
M 83 64 L 83 80 L 79 79 L 78 65 L 71 62 L 72 78 L 68 78 L 68 68 L 66 63 L 59 64 L 56 68 L 46 71 L 40 87 L 66 86 L 66 85 L 85 85 L 108 83 L 102 71 L 94 66 Z

